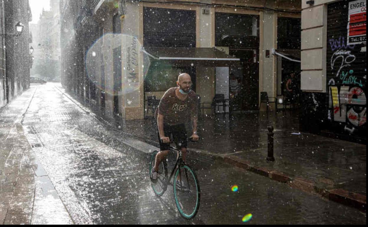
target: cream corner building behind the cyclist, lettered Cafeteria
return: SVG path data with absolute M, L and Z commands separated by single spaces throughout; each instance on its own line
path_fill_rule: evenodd
M 63 85 L 103 107 L 111 116 L 143 118 L 147 97 L 162 97 L 167 88 L 175 86 L 179 72 L 192 75 L 193 89 L 200 95 L 201 102 L 211 102 L 216 93 L 223 93 L 227 99 L 233 98 L 229 92 L 229 75 L 232 75 L 241 87 L 238 92 L 241 108 L 265 109 L 265 105 L 260 106 L 261 92 L 283 98 L 281 90 L 284 89 L 285 75 L 278 64 L 300 71 L 300 64 L 290 66 L 286 58 L 279 58 L 272 54 L 272 50 L 282 49 L 283 53 L 300 56 L 300 35 L 298 32 L 293 35 L 293 28 L 300 31 L 301 1 L 250 0 L 240 4 L 235 0 L 190 3 L 184 0 L 96 0 L 61 1 L 60 7 Z M 290 23 L 295 26 L 290 28 Z M 169 51 L 194 48 L 194 51 L 206 52 L 216 47 L 238 59 L 239 64 L 223 65 L 219 61 L 179 63 L 176 60 L 162 63 L 149 57 L 149 69 L 139 67 L 135 71 L 139 74 L 138 79 L 133 80 L 138 84 L 132 85 L 132 81 L 124 81 L 130 76 L 126 62 L 122 60 L 127 60 L 124 57 L 127 51 L 124 49 L 125 35 L 137 38 L 138 45 L 150 55 L 163 48 L 169 48 Z M 118 37 L 121 40 L 115 41 Z M 279 42 L 284 45 L 278 45 Z M 294 45 L 285 44 L 289 42 Z M 92 53 L 89 52 L 91 48 L 95 57 L 99 57 L 93 60 L 98 65 L 95 67 L 85 65 L 88 54 Z M 137 65 L 147 65 L 146 55 L 139 53 Z M 84 59 L 84 62 L 72 59 Z M 127 86 L 138 86 L 134 95 L 124 93 L 129 90 Z M 129 106 L 132 102 L 135 104 Z

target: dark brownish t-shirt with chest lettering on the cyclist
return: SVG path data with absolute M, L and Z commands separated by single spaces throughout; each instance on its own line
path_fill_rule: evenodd
M 183 101 L 178 99 L 175 93 L 176 88 L 170 88 L 165 92 L 160 101 L 157 112 L 164 116 L 164 124 L 175 125 L 182 124 L 188 120 L 188 117 L 198 114 L 198 97 L 194 91 L 188 93 Z

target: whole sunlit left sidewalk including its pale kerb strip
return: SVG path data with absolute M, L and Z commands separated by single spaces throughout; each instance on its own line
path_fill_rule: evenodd
M 31 85 L 0 110 L 0 224 L 72 224 L 24 133 L 37 88 Z

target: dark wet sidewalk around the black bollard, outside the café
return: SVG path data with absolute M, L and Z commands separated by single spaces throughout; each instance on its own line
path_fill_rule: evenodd
M 110 119 L 111 122 L 111 119 Z M 125 132 L 158 147 L 155 120 L 116 121 Z M 275 162 L 267 162 L 267 127 L 273 125 Z M 243 113 L 205 117 L 202 139 L 189 152 L 289 184 L 292 188 L 366 210 L 366 145 L 309 133 L 299 134 L 298 115 Z

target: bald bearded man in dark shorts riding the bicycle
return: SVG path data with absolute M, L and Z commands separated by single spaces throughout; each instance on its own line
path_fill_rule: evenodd
M 185 162 L 187 153 L 185 121 L 188 117 L 191 117 L 193 125 L 190 138 L 193 141 L 198 141 L 199 138 L 197 135 L 198 97 L 190 89 L 192 86 L 190 75 L 187 73 L 180 74 L 176 84 L 178 85 L 176 88 L 170 88 L 165 92 L 156 110 L 160 152 L 157 153 L 155 167 L 152 168 L 151 182 L 153 184 L 156 184 L 159 178 L 160 162 L 169 154 L 171 134 L 178 149 L 181 149 Z

